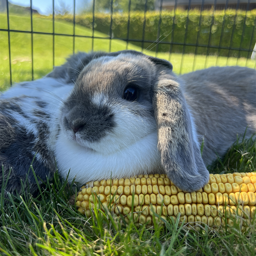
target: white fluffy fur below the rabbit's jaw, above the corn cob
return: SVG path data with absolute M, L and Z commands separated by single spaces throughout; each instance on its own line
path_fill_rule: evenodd
M 60 136 L 56 143 L 59 173 L 80 185 L 93 180 L 131 177 L 138 174 L 163 172 L 157 150 L 157 134 L 150 133 L 129 147 L 109 155 L 79 146 Z

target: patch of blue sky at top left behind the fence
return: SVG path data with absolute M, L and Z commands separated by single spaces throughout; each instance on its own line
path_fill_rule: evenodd
M 30 6 L 30 0 L 9 0 L 10 3 L 20 6 Z M 76 0 L 76 9 L 81 7 L 82 3 L 86 0 Z M 73 13 L 74 2 L 73 0 L 55 0 L 55 8 L 65 7 Z M 52 0 L 32 0 L 32 8 L 38 10 L 42 15 L 49 15 L 52 13 Z

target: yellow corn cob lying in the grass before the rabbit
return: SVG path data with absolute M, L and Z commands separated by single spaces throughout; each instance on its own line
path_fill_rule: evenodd
M 172 216 L 174 220 L 180 213 L 179 221 L 190 226 L 232 226 L 237 217 L 241 223 L 248 223 L 254 216 L 256 173 L 210 174 L 208 184 L 191 193 L 177 188 L 165 174 L 87 183 L 77 195 L 78 211 L 91 216 L 90 208 L 96 202 L 103 211 L 122 214 L 126 222 L 133 214 L 134 221 L 152 225 L 153 216 L 159 221 L 155 213 L 163 219 Z

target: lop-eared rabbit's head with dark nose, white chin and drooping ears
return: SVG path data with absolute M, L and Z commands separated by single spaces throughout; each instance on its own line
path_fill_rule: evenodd
M 78 54 L 50 77 L 74 82 L 61 108 L 56 159 L 79 183 L 165 172 L 194 191 L 209 173 L 170 62 L 135 51 Z

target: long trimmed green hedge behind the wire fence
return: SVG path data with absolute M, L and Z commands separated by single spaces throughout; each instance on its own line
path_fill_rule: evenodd
M 162 42 L 170 42 L 173 34 L 174 43 L 184 43 L 186 34 L 186 24 L 188 17 L 188 33 L 185 40 L 186 44 L 196 44 L 198 35 L 198 45 L 209 45 L 214 47 L 229 47 L 241 49 L 253 49 L 255 44 L 255 14 L 256 10 L 249 12 L 235 10 L 215 11 L 211 10 L 203 11 L 200 15 L 198 10 L 190 10 L 189 12 L 184 10 L 163 11 L 161 13 L 160 23 L 160 40 Z M 159 12 L 147 12 L 145 24 L 145 40 L 155 41 L 157 40 L 158 22 L 160 19 Z M 128 14 L 114 13 L 112 20 L 112 38 L 127 39 L 127 24 Z M 73 22 L 73 16 L 57 16 L 56 18 L 65 19 Z M 87 28 L 92 28 L 92 14 L 84 14 L 76 16 L 76 23 Z M 174 22 L 174 30 L 173 30 Z M 245 24 L 244 24 L 245 22 Z M 110 33 L 111 16 L 109 14 L 96 13 L 94 28 L 97 31 L 109 35 Z M 131 12 L 130 13 L 130 29 L 129 39 L 142 40 L 143 35 L 143 12 Z M 212 24 L 212 25 L 211 25 Z M 244 28 L 244 33 L 242 31 Z M 209 31 L 211 33 L 209 33 Z M 222 36 L 221 36 L 222 33 Z M 252 37 L 252 33 L 253 37 Z M 233 35 L 232 35 L 233 34 Z M 232 40 L 231 40 L 232 35 Z M 210 37 L 210 39 L 209 39 Z M 252 38 L 252 41 L 251 41 Z M 132 44 L 141 46 L 141 42 L 132 42 Z M 150 46 L 149 43 L 144 43 L 144 49 Z M 155 46 L 155 44 L 153 45 Z M 152 46 L 151 46 L 152 47 Z M 150 48 L 151 48 L 150 47 Z M 159 44 L 158 51 L 169 51 L 169 45 Z M 154 50 L 153 48 L 152 50 Z M 172 52 L 182 52 L 183 46 L 173 45 Z M 194 46 L 186 46 L 185 53 L 195 53 Z M 238 51 L 219 50 L 209 47 L 208 50 L 205 47 L 198 47 L 197 54 L 218 54 L 220 56 L 236 56 Z M 248 52 L 240 51 L 240 57 L 247 57 Z

